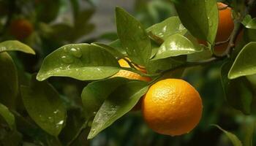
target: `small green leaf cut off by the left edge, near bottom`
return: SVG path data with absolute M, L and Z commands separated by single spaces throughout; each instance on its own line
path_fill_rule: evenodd
M 15 129 L 15 117 L 12 112 L 8 110 L 3 104 L 0 103 L 0 115 L 7 122 L 11 130 Z

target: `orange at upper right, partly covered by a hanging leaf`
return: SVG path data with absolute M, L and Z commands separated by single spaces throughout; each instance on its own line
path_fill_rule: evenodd
M 215 42 L 223 42 L 230 37 L 231 32 L 234 28 L 234 23 L 232 19 L 232 12 L 230 7 L 227 7 L 226 4 L 218 2 L 219 8 L 219 24 Z M 199 43 L 207 45 L 206 41 L 198 40 Z M 223 53 L 227 48 L 228 42 L 223 43 L 222 45 L 216 45 L 214 51 L 216 53 Z

